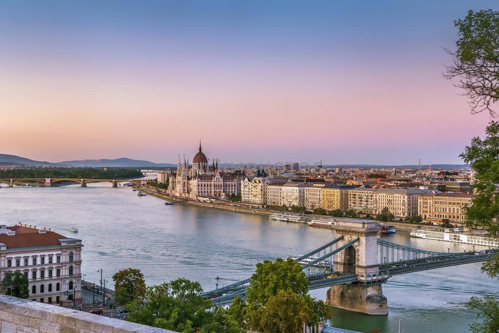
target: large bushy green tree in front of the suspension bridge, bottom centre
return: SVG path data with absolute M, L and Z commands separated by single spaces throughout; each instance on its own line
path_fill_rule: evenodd
M 292 259 L 256 264 L 246 303 L 234 307 L 229 309 L 232 318 L 243 318 L 243 328 L 261 333 L 298 332 L 302 323 L 331 319 L 329 307 L 308 295 L 302 267 Z

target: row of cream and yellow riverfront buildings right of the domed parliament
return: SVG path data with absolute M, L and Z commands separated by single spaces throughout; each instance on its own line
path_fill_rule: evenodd
M 462 208 L 471 203 L 469 193 L 441 193 L 434 189 L 384 189 L 355 185 L 296 184 L 285 177 L 247 177 L 242 181 L 242 201 L 258 205 L 286 205 L 308 210 L 354 210 L 380 214 L 387 207 L 397 218 L 421 216 L 461 222 Z

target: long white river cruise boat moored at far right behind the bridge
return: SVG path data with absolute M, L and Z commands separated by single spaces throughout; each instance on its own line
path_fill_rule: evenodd
M 434 239 L 438 241 L 455 242 L 455 243 L 465 243 L 473 245 L 483 245 L 491 247 L 499 247 L 499 243 L 494 241 L 492 238 L 487 237 L 485 232 L 474 232 L 474 233 L 457 233 L 454 230 L 449 229 L 446 231 L 436 231 L 428 229 L 413 229 L 411 231 L 411 236 Z M 451 232 L 452 230 L 452 232 Z

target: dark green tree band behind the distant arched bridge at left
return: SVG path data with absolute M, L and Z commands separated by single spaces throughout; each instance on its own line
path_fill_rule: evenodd
M 35 168 L 19 170 L 0 170 L 0 178 L 85 178 L 117 179 L 141 177 L 142 172 L 135 169 L 119 168 Z

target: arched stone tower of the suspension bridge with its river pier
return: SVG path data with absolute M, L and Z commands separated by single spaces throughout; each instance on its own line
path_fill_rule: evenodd
M 326 302 L 335 308 L 367 315 L 387 315 L 388 302 L 383 296 L 381 283 L 388 277 L 379 272 L 378 231 L 375 221 L 339 219 L 334 226 L 337 236 L 343 236 L 338 247 L 359 240 L 336 256 L 335 270 L 343 274 L 356 274 L 357 282 L 333 286 L 327 291 Z

